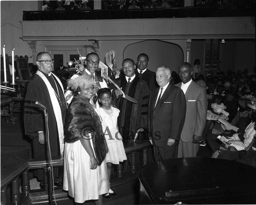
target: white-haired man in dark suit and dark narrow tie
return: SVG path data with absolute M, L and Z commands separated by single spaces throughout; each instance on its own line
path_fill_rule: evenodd
M 171 85 L 170 69 L 157 68 L 156 81 L 160 88 L 151 92 L 148 105 L 148 130 L 155 161 L 178 157 L 178 144 L 185 121 L 186 100 L 183 91 Z

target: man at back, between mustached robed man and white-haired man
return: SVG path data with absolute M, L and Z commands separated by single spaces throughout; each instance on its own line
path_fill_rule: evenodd
M 140 54 L 137 58 L 137 69 L 135 69 L 135 74 L 147 83 L 148 89 L 154 90 L 158 87 L 156 73 L 147 68 L 148 61 L 149 59 L 146 54 Z

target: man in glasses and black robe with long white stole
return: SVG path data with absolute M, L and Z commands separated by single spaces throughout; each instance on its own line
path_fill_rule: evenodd
M 49 144 L 52 159 L 59 159 L 64 149 L 63 124 L 65 123 L 67 103 L 63 86 L 53 71 L 53 59 L 47 52 L 41 52 L 36 57 L 38 71 L 28 85 L 25 96 L 24 125 L 25 134 L 32 138 L 33 156 L 35 161 L 48 160 L 46 143 L 46 122 L 42 109 L 34 106 L 38 101 L 45 106 L 48 113 Z M 56 169 L 53 169 L 56 176 Z M 37 170 L 37 180 L 44 186 L 44 173 Z M 54 183 L 61 186 L 61 183 Z

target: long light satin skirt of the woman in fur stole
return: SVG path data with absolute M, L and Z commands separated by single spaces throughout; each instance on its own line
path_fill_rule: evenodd
M 93 148 L 93 143 L 91 146 Z M 96 169 L 90 169 L 90 156 L 83 148 L 80 140 L 65 144 L 63 190 L 75 202 L 83 203 L 86 200 L 97 200 L 99 195 L 109 191 L 109 178 L 105 160 Z

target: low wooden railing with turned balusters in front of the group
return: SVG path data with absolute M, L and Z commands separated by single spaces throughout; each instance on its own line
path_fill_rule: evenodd
M 136 143 L 125 146 L 126 156 L 130 159 L 130 173 L 133 173 L 136 178 L 138 169 L 138 167 L 136 167 L 136 153 L 140 151 L 142 152 L 141 166 L 144 166 L 147 164 L 148 147 L 150 147 L 150 143 L 147 140 L 137 140 Z M 32 204 L 35 202 L 48 201 L 48 163 L 46 161 L 26 161 L 12 156 L 2 157 L 1 160 L 1 204 Z M 52 166 L 63 166 L 63 159 L 53 160 Z M 45 190 L 30 191 L 29 170 L 39 168 L 44 169 Z M 121 163 L 117 166 L 116 175 L 120 179 L 125 177 L 123 165 Z M 120 183 L 121 182 L 119 181 L 117 184 Z M 21 184 L 22 187 L 21 193 L 19 184 Z M 111 186 L 115 187 L 117 184 L 115 185 L 115 183 L 112 183 Z M 56 189 L 55 199 L 61 200 L 67 197 L 67 192 L 62 191 L 61 189 Z

